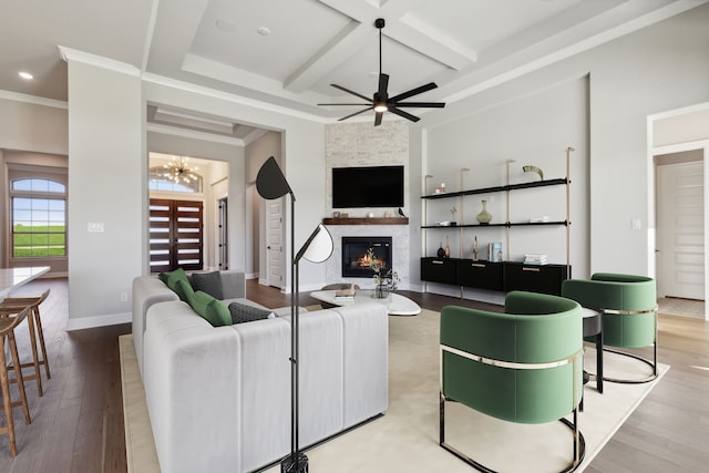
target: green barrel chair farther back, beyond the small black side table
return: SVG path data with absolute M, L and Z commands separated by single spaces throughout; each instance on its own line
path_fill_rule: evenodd
M 618 379 L 604 374 L 604 380 L 641 383 L 657 378 L 657 291 L 655 279 L 646 276 L 596 273 L 590 280 L 567 279 L 562 296 L 603 315 L 604 351 L 633 357 L 653 368 L 644 379 Z M 653 346 L 653 361 L 615 348 Z M 607 371 L 606 371 L 607 373 Z

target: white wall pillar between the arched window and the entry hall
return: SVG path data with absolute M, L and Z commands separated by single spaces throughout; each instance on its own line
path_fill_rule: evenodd
M 144 258 L 145 107 L 137 74 L 74 61 L 69 104 L 68 328 L 74 329 L 130 319 L 127 295 Z M 88 232 L 90 223 L 104 232 Z

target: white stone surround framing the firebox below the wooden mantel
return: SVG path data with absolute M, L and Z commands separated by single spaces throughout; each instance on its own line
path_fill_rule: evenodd
M 398 273 L 400 289 L 409 288 L 409 225 L 327 225 L 335 244 L 332 256 L 326 261 L 326 280 L 331 282 L 350 282 L 362 289 L 374 287 L 373 278 L 342 277 L 342 237 L 373 236 L 391 237 L 392 268 Z

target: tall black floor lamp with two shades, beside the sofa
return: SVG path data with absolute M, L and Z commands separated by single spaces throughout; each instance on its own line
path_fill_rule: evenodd
M 299 332 L 299 302 L 298 302 L 298 264 L 302 258 L 312 263 L 322 263 L 332 254 L 332 238 L 328 230 L 320 224 L 310 234 L 300 250 L 296 254 L 296 196 L 288 185 L 278 163 L 274 156 L 258 171 L 256 176 L 256 189 L 266 199 L 280 198 L 290 194 L 290 455 L 280 462 L 281 473 L 307 473 L 308 457 L 300 452 L 298 442 L 298 332 Z

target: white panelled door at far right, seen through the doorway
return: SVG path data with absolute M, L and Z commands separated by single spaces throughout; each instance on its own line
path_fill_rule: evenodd
M 705 298 L 703 163 L 657 167 L 658 297 Z

